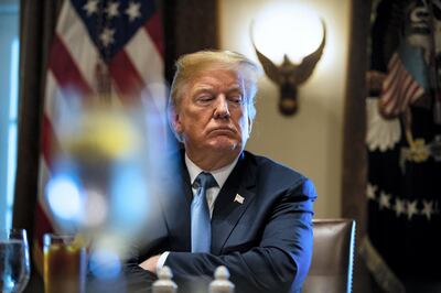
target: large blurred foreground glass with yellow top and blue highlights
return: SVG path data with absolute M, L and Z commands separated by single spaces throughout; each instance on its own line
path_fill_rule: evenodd
M 142 109 L 86 106 L 60 126 L 61 151 L 46 185 L 57 230 L 79 234 L 97 278 L 114 279 L 140 231 L 154 229 L 161 176 L 173 170 L 158 124 Z M 151 231 L 151 230 L 150 230 Z

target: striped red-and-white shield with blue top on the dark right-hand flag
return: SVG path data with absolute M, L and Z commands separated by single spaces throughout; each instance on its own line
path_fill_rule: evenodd
M 428 84 L 427 66 L 421 47 L 402 44 L 388 63 L 383 83 L 379 110 L 385 117 L 397 117 L 424 93 Z

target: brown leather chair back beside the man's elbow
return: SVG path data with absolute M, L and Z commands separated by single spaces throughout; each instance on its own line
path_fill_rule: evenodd
M 315 219 L 314 250 L 303 293 L 352 291 L 355 220 Z

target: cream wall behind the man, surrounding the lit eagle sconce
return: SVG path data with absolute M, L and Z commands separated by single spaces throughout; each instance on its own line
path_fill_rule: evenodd
M 300 107 L 295 116 L 279 113 L 278 88 L 265 76 L 261 78 L 257 118 L 247 149 L 312 178 L 319 194 L 315 217 L 338 217 L 351 2 L 218 0 L 220 47 L 257 61 L 249 40 L 249 23 L 266 6 L 275 2 L 314 9 L 326 24 L 326 46 L 312 77 L 299 89 Z

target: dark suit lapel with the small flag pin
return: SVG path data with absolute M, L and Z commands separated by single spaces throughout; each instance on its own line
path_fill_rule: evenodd
M 254 199 L 256 165 L 249 156 L 245 152 L 240 155 L 236 167 L 216 198 L 212 216 L 212 252 L 215 254 L 220 253 L 240 217 Z

